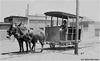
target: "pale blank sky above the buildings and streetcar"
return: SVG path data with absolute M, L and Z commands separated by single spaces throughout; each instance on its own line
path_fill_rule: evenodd
M 62 11 L 75 14 L 76 0 L 0 0 L 0 21 L 12 15 L 25 16 L 27 4 L 30 5 L 29 14 L 43 14 L 47 11 Z M 79 0 L 79 14 L 100 21 L 99 0 Z

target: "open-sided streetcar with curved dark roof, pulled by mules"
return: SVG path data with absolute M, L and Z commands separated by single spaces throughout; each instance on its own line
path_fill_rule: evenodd
M 50 45 L 50 48 L 54 48 L 55 45 L 74 46 L 76 38 L 76 15 L 58 11 L 45 12 L 44 14 L 46 15 L 46 20 L 48 20 L 48 16 L 51 17 L 51 25 L 45 27 L 46 43 Z M 56 20 L 53 18 L 56 18 Z M 79 16 L 79 18 L 82 19 L 83 17 Z M 78 40 L 80 41 L 82 27 L 78 27 Z

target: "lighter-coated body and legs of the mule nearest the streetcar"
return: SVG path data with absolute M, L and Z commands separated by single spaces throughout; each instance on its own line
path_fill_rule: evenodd
M 36 42 L 37 41 L 39 41 L 39 43 L 42 46 L 41 52 L 43 51 L 44 41 L 46 40 L 46 38 L 45 38 L 45 35 L 44 35 L 44 33 L 42 31 L 37 31 L 37 32 L 32 31 L 29 34 L 32 37 L 32 41 L 31 42 L 33 44 L 32 49 L 34 48 L 34 51 L 35 51 L 35 46 L 36 46 Z M 34 42 L 34 41 L 36 41 L 36 42 Z

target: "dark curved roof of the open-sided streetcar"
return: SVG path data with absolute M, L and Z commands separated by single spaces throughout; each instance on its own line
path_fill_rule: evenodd
M 76 18 L 76 15 L 74 14 L 60 12 L 60 11 L 50 11 L 50 12 L 45 12 L 44 14 L 47 16 L 59 17 L 64 19 Z M 83 18 L 83 17 L 79 16 L 79 18 Z

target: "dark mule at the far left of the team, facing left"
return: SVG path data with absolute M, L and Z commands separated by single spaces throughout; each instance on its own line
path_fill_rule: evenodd
M 10 28 L 7 30 L 7 38 L 10 38 L 12 35 L 14 35 L 14 37 L 17 39 L 18 44 L 19 44 L 19 52 L 24 52 L 24 48 L 23 48 L 23 42 L 26 43 L 26 52 L 28 52 L 28 44 L 29 47 L 31 49 L 31 45 L 29 42 L 29 37 L 23 35 L 23 37 L 19 37 L 20 35 L 22 35 L 23 33 L 18 29 L 20 25 L 14 27 L 13 25 L 10 26 Z

